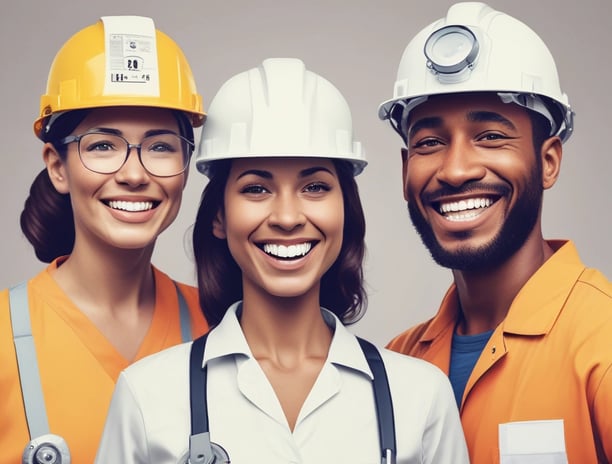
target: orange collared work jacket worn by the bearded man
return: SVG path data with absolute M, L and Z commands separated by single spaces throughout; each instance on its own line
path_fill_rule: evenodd
M 500 462 L 499 424 L 563 420 L 570 463 L 612 462 L 612 284 L 571 242 L 518 293 L 468 379 L 461 421 L 473 464 Z M 449 371 L 455 286 L 429 321 L 388 348 Z M 600 461 L 598 461 L 598 457 Z

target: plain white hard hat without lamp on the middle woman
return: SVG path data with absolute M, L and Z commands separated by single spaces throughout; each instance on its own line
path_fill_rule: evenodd
M 196 166 L 209 175 L 215 160 L 324 157 L 366 165 L 353 139 L 348 103 L 328 80 L 293 58 L 270 58 L 230 78 L 208 108 Z

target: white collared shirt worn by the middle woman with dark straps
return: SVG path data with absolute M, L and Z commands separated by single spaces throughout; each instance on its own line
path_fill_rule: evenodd
M 372 373 L 357 342 L 331 312 L 328 358 L 291 431 L 280 403 L 228 309 L 211 331 L 210 437 L 232 464 L 378 464 L 381 451 Z M 191 343 L 149 356 L 120 376 L 97 464 L 176 464 L 189 447 Z M 468 463 L 448 378 L 435 366 L 381 350 L 393 398 L 397 463 Z

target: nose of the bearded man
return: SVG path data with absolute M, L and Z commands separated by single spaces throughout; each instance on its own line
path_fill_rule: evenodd
M 444 153 L 437 178 L 441 183 L 453 187 L 480 180 L 486 174 L 483 161 L 469 141 L 454 140 Z

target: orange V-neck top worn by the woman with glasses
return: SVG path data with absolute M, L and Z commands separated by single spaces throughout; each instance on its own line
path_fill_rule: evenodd
M 68 299 L 49 267 L 28 282 L 32 335 L 50 432 L 62 436 L 71 462 L 93 463 L 119 373 L 130 361 L 115 350 Z M 181 342 L 174 282 L 156 268 L 155 310 L 136 359 Z M 197 289 L 180 284 L 194 337 L 207 329 Z M 135 360 L 136 360 L 135 359 Z M 30 441 L 9 312 L 9 292 L 0 292 L 0 464 L 17 464 Z

